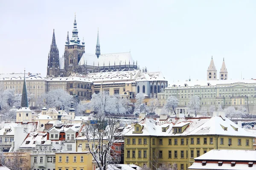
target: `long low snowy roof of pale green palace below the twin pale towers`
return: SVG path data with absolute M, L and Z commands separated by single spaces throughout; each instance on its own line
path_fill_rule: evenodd
M 208 86 L 208 83 L 210 86 Z M 243 84 L 246 86 L 256 86 L 256 80 L 255 79 L 239 79 L 239 80 L 192 80 L 192 81 L 187 81 L 187 80 L 182 80 L 182 81 L 169 81 L 168 82 L 168 88 L 184 88 L 184 85 L 186 84 L 186 88 L 195 88 L 200 87 L 200 86 L 205 86 L 205 87 L 212 87 L 212 86 L 229 86 L 232 87 L 236 85 L 237 83 Z M 173 86 L 175 85 L 175 87 Z

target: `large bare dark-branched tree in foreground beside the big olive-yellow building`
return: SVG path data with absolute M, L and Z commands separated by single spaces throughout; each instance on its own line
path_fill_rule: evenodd
M 97 114 L 90 122 L 86 122 L 82 129 L 84 141 L 89 144 L 89 152 L 100 170 L 106 170 L 107 165 L 114 162 L 110 152 L 116 141 L 116 136 L 122 136 L 116 130 L 117 127 L 117 119 L 105 114 Z

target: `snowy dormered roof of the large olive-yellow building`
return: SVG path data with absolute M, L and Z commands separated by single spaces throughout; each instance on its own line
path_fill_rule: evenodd
M 253 137 L 241 127 L 238 127 L 229 119 L 223 120 L 221 116 L 197 117 L 197 118 L 179 118 L 166 120 L 145 118 L 137 123 L 143 126 L 143 133 L 134 133 L 134 126 L 129 128 L 125 136 L 195 136 L 195 135 L 227 135 L 227 136 L 247 136 Z M 136 124 L 135 124 L 136 125 Z M 183 127 L 186 125 L 182 133 L 175 133 L 172 127 Z M 233 126 L 233 127 L 232 127 Z M 166 131 L 162 131 L 162 127 L 168 127 Z M 224 130 L 224 127 L 227 127 Z

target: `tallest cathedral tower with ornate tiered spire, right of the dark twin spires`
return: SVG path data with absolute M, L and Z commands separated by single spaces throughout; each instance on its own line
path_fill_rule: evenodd
M 79 61 L 84 54 L 84 43 L 80 44 L 78 37 L 78 30 L 76 26 L 76 15 L 74 21 L 74 27 L 72 31 L 72 38 L 69 40 L 67 36 L 67 42 L 64 51 L 64 77 L 69 77 L 72 73 L 78 73 Z

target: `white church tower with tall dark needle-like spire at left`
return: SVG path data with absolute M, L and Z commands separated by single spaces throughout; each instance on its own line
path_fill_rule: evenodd
M 16 112 L 16 122 L 32 122 L 32 111 L 29 109 L 29 102 L 26 91 L 26 77 L 24 70 L 24 81 L 20 109 Z

